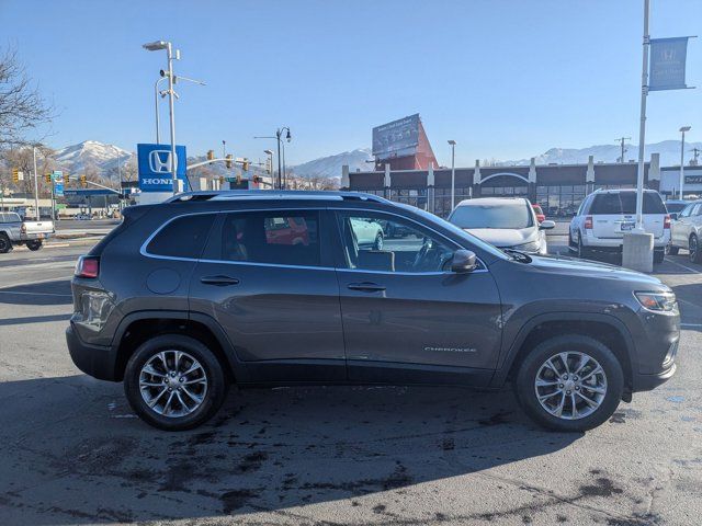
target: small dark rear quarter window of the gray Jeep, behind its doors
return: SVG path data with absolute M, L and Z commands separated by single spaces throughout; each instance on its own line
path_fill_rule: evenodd
M 152 255 L 196 260 L 207 241 L 215 214 L 182 216 L 166 225 L 149 242 L 146 251 Z

